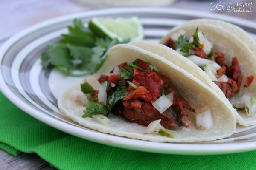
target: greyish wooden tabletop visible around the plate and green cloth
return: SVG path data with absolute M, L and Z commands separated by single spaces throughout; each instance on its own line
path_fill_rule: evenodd
M 44 20 L 66 14 L 77 13 L 96 8 L 77 2 L 78 0 L 0 0 L 0 46 L 13 34 Z M 198 10 L 241 17 L 256 22 L 256 9 L 252 12 L 227 12 L 224 10 L 211 10 L 212 3 L 255 3 L 255 0 L 177 0 L 164 7 Z M 21 153 L 12 156 L 0 149 L 1 170 L 54 170 L 49 163 L 37 154 Z

